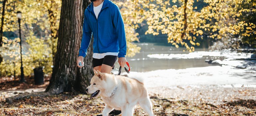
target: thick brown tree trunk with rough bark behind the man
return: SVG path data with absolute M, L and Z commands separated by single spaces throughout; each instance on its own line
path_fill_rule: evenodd
M 88 4 L 87 0 L 62 0 L 57 52 L 52 78 L 46 92 L 85 92 L 88 86 L 93 75 L 92 45 L 89 46 L 84 59 L 85 66 L 78 68 L 76 65 L 82 38 L 84 10 Z

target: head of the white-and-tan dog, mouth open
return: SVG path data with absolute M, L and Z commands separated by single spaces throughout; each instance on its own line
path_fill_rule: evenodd
M 101 73 L 98 70 L 93 70 L 93 72 L 94 76 L 91 78 L 91 85 L 86 88 L 86 92 L 91 94 L 91 98 L 100 95 L 101 91 L 107 86 L 105 73 Z

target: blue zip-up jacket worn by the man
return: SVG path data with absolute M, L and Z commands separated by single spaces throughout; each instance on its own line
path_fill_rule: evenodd
M 92 35 L 93 53 L 119 52 L 119 58 L 125 57 L 124 23 L 119 8 L 112 1 L 104 0 L 98 20 L 93 11 L 93 2 L 85 9 L 79 56 L 86 56 Z

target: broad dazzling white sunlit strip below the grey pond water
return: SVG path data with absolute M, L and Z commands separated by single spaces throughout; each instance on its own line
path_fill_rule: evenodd
M 147 87 L 186 85 L 224 85 L 223 87 L 256 87 L 256 71 L 232 66 L 209 66 L 187 69 L 167 69 L 149 72 L 130 72 L 129 77 L 145 79 Z

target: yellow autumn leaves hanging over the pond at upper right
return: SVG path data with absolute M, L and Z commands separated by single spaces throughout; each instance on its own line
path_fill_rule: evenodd
M 140 3 L 140 0 L 127 1 Z M 198 2 L 204 4 L 200 9 L 195 6 Z M 251 7 L 241 8 L 243 4 Z M 203 39 L 203 35 L 221 39 L 228 35 L 256 34 L 255 24 L 241 20 L 244 13 L 256 12 L 256 2 L 251 0 L 151 0 L 142 6 L 137 12 L 145 16 L 149 26 L 145 34 L 167 34 L 169 43 L 177 48 L 185 46 L 190 52 L 194 51 L 195 45 L 200 45 L 195 41 Z

